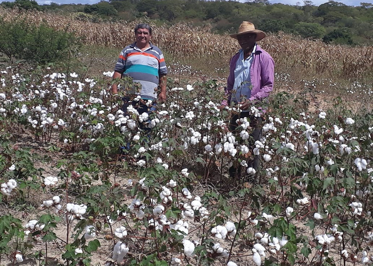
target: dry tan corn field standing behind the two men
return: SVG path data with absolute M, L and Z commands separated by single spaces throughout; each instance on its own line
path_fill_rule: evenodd
M 25 19 L 32 23 L 46 23 L 52 28 L 67 27 L 84 44 L 123 48 L 134 40 L 137 22 L 101 22 L 76 20 L 74 15 L 62 16 L 44 12 L 20 13 L 0 8 L 5 20 Z M 228 63 L 236 53 L 238 43 L 228 35 L 211 33 L 209 27 L 191 28 L 185 24 L 153 27 L 154 44 L 177 57 L 215 56 Z M 347 47 L 328 45 L 320 40 L 301 39 L 278 33 L 259 42 L 276 62 L 279 72 L 307 72 L 315 75 L 340 75 L 350 78 L 369 77 L 373 72 L 373 46 Z

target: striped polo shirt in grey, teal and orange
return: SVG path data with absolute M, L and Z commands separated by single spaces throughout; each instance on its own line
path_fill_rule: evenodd
M 142 99 L 157 99 L 159 76 L 167 74 L 166 63 L 162 51 L 149 43 L 150 47 L 141 51 L 136 42 L 125 47 L 120 52 L 114 70 L 123 76 L 130 76 L 135 83 L 141 83 Z M 130 91 L 130 94 L 138 94 Z

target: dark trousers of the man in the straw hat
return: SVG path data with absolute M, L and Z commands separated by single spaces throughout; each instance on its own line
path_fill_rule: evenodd
M 233 133 L 239 133 L 237 132 L 236 128 L 238 124 L 236 123 L 236 120 L 239 118 L 247 117 L 247 119 L 250 119 L 250 127 L 253 128 L 253 132 L 250 134 L 250 142 L 249 142 L 249 148 L 250 151 L 253 153 L 253 149 L 255 148 L 255 142 L 256 140 L 261 139 L 261 133 L 263 131 L 262 125 L 263 125 L 263 118 L 262 117 L 254 117 L 250 116 L 250 114 L 241 112 L 240 114 L 232 114 L 231 117 L 231 123 L 229 124 L 229 130 Z M 256 171 L 260 165 L 261 161 L 261 155 L 253 155 L 253 159 L 247 160 L 248 167 L 254 168 Z M 233 165 L 231 168 L 229 168 L 229 175 L 231 177 L 240 176 L 241 175 L 241 165 Z M 245 175 L 247 176 L 246 172 Z

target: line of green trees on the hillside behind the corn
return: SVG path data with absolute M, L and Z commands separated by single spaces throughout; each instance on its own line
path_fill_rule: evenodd
M 73 13 L 76 19 L 93 22 L 147 18 L 155 23 L 211 25 L 211 30 L 219 34 L 235 32 L 242 20 L 250 20 L 265 32 L 282 31 L 334 44 L 373 44 L 372 3 L 361 3 L 354 7 L 336 1 L 315 6 L 310 0 L 303 0 L 303 5 L 271 4 L 268 0 L 249 0 L 246 3 L 221 0 L 109 0 L 97 4 L 51 3 L 40 6 L 34 0 L 15 0 L 0 5 Z

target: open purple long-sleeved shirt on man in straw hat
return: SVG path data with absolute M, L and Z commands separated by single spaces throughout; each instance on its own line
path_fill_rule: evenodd
M 222 101 L 222 105 L 231 103 L 232 88 L 234 85 L 234 70 L 236 67 L 239 53 L 236 53 L 229 63 L 229 76 L 227 81 L 227 88 L 225 95 L 228 95 L 227 100 Z M 250 81 L 251 81 L 251 95 L 250 101 L 261 101 L 268 97 L 273 90 L 273 81 L 275 79 L 275 61 L 272 57 L 264 51 L 258 44 L 254 54 L 253 63 L 250 66 Z

